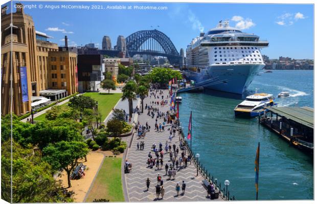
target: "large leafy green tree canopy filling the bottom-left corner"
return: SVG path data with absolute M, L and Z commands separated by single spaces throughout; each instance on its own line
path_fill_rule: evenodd
M 40 153 L 32 147 L 23 148 L 12 142 L 12 201 L 17 202 L 72 202 L 72 193 L 62 191 L 62 186 L 52 176 L 51 166 L 41 160 Z M 1 197 L 11 202 L 11 142 L 1 148 Z

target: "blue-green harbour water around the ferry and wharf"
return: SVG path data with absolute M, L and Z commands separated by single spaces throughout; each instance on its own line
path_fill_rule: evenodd
M 274 94 L 278 106 L 313 107 L 312 70 L 274 70 L 257 76 L 245 95 Z M 278 98 L 287 91 L 290 97 Z M 257 118 L 235 118 L 234 108 L 243 97 L 208 91 L 181 93 L 180 122 L 187 135 L 190 111 L 192 149 L 221 188 L 230 181 L 230 195 L 254 200 L 254 161 L 260 142 L 259 199 L 313 199 L 313 158 L 290 146 L 258 123 Z

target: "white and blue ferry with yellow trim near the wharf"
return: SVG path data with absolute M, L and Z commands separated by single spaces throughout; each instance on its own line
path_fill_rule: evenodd
M 263 115 L 264 108 L 275 106 L 272 94 L 255 93 L 247 96 L 245 100 L 235 108 L 235 116 L 256 117 Z

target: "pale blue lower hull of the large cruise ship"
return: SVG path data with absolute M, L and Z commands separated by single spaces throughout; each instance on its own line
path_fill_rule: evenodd
M 242 94 L 251 84 L 264 64 L 211 65 L 201 72 L 185 70 L 186 77 L 196 86 L 207 89 Z

